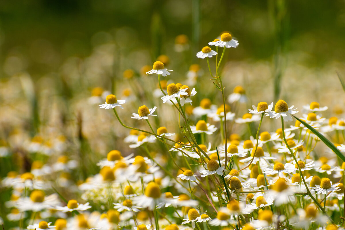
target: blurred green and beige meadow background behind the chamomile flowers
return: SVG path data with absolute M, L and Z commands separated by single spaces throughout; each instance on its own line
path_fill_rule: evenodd
M 158 116 L 149 118 L 154 130 L 165 126 L 178 136 L 179 114 L 171 104 L 161 103 L 163 94 L 159 96 L 156 74 L 145 72 L 152 69 L 155 61 L 161 61 L 165 68 L 173 70 L 171 75 L 160 78 L 163 89 L 170 83 L 196 88 L 193 105 L 185 107 L 190 124 L 195 125 L 198 116 L 193 109 L 202 99 L 209 98 L 217 107 L 223 105 L 222 94 L 210 80 L 206 59 L 197 58 L 196 53 L 224 32 L 239 41 L 236 49 L 227 49 L 230 51 L 224 54 L 219 69 L 225 96 L 240 85 L 248 98 L 242 104 L 229 103 L 235 118 L 242 118 L 252 104 L 256 106 L 261 101 L 270 104 L 278 99 L 300 111 L 316 101 L 320 107 L 328 107 L 323 116 L 344 118 L 341 81 L 345 80 L 345 0 L 0 1 L 0 217 L 4 229 L 26 229 L 38 220 L 54 224 L 57 218 L 76 215 L 20 211 L 26 214 L 18 219 L 8 218 L 9 213 L 16 212 L 13 207 L 17 209 L 18 204 L 11 207 L 6 202 L 15 200 L 14 196 L 25 198 L 30 193 L 26 185 L 15 188 L 4 181 L 11 177 L 22 179 L 28 172 L 35 178 L 44 178 L 47 187 L 42 190 L 46 194 L 58 194 L 61 206 L 76 199 L 80 203 L 90 202 L 90 212 L 101 214 L 112 209 L 111 201 L 109 205 L 108 201 L 103 202 L 96 194 L 86 194 L 78 186 L 100 172 L 97 163 L 107 158 L 111 150 L 119 150 L 123 157 L 131 153 L 147 154 L 141 148 L 129 148 L 124 138 L 130 130 L 121 126 L 112 109 L 99 109 L 98 105 L 105 103 L 108 94 L 126 100 L 124 109 L 116 109 L 119 117 L 126 125 L 143 130 L 149 130 L 147 123 L 131 119 L 132 113 L 144 104 L 148 108 L 157 106 Z M 223 51 L 217 50 L 219 55 Z M 215 57 L 209 62 L 215 72 Z M 198 77 L 187 77 L 195 69 Z M 301 117 L 302 112 L 297 115 Z M 204 115 L 202 119 L 207 117 Z M 258 123 L 248 123 L 248 127 L 229 122 L 225 139 L 233 133 L 240 140 L 255 138 Z M 280 119 L 264 118 L 260 132 L 278 128 Z M 213 150 L 223 143 L 222 132 L 223 129 L 218 130 L 207 138 Z M 324 136 L 334 144 L 345 141 L 345 136 L 339 137 L 339 133 L 324 133 Z M 202 138 L 196 134 L 198 143 L 204 144 Z M 187 142 L 184 134 L 171 139 Z M 319 142 L 315 161 L 326 154 L 326 148 Z M 166 167 L 172 174 L 178 173 L 163 143 L 157 141 L 150 151 L 157 154 L 156 160 L 161 164 L 168 162 Z M 67 161 L 73 161 L 71 165 L 74 163 L 75 167 L 52 170 L 57 162 Z M 183 160 L 180 162 L 185 164 Z M 190 159 L 187 162 L 195 166 Z M 48 171 L 33 173 L 42 166 L 48 167 Z M 185 193 L 193 197 L 188 190 Z M 292 208 L 290 211 L 296 214 Z M 167 216 L 172 216 L 171 212 Z M 332 218 L 341 221 L 338 214 Z M 131 229 L 128 226 L 137 224 L 124 226 L 118 228 Z M 205 226 L 200 224 L 206 230 Z M 89 223 L 85 229 L 90 228 Z

